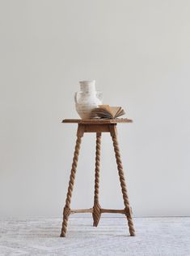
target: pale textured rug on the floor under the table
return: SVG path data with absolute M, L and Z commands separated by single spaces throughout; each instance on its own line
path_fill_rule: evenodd
M 61 219 L 0 219 L 0 255 L 190 255 L 190 218 L 134 218 L 129 236 L 125 218 L 71 217 L 67 237 Z

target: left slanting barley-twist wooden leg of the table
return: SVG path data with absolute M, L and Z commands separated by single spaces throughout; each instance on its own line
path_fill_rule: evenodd
M 68 187 L 68 191 L 67 191 L 67 195 L 66 195 L 65 207 L 63 210 L 63 222 L 62 222 L 61 235 L 60 235 L 61 237 L 65 237 L 67 222 L 68 222 L 69 215 L 70 215 L 70 201 L 71 201 L 72 192 L 74 189 L 74 178 L 75 178 L 75 173 L 77 170 L 78 154 L 79 154 L 79 150 L 80 150 L 80 145 L 81 145 L 81 137 L 78 136 L 76 145 L 75 145 L 75 150 L 74 150 L 73 164 L 72 164 L 72 168 L 70 171 L 70 182 L 69 182 L 69 187 Z

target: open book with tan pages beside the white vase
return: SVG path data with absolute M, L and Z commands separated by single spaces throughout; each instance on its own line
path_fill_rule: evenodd
M 91 111 L 91 118 L 116 119 L 121 115 L 125 115 L 121 106 L 99 105 Z

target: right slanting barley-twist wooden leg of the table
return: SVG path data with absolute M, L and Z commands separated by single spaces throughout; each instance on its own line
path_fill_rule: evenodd
M 117 163 L 118 173 L 120 176 L 120 186 L 121 186 L 121 191 L 122 191 L 123 198 L 124 198 L 125 209 L 128 211 L 128 215 L 126 215 L 126 216 L 128 219 L 129 232 L 130 232 L 131 236 L 135 236 L 135 231 L 133 228 L 132 213 L 131 213 L 131 209 L 129 206 L 129 197 L 128 197 L 128 193 L 127 193 L 127 187 L 125 184 L 125 176 L 124 176 L 123 166 L 122 166 L 121 159 L 120 159 L 120 150 L 119 150 L 119 145 L 118 145 L 116 135 L 112 136 L 112 141 L 113 141 L 113 146 L 114 146 L 114 150 L 115 150 L 115 154 L 116 154 L 116 163 Z

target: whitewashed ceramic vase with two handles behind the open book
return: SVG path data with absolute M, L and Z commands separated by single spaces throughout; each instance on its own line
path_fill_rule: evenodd
M 102 104 L 103 95 L 95 89 L 95 80 L 80 81 L 80 91 L 74 94 L 76 111 L 82 119 L 89 119 L 93 108 Z

